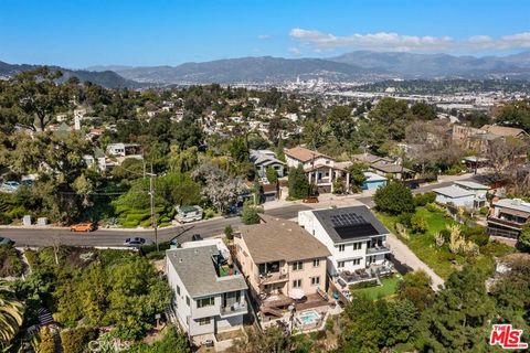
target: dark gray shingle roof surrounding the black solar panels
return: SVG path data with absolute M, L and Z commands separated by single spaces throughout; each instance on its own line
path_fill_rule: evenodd
M 335 244 L 339 243 L 347 243 L 351 242 L 352 239 L 359 240 L 360 238 L 367 238 L 368 236 L 364 234 L 356 235 L 354 233 L 344 238 L 343 236 L 339 235 L 337 232 L 336 225 L 332 222 L 332 217 L 337 215 L 347 215 L 347 214 L 356 214 L 357 216 L 362 217 L 367 223 L 369 223 L 377 234 L 373 235 L 384 235 L 389 234 L 390 232 L 384 227 L 384 225 L 379 222 L 378 218 L 373 215 L 373 213 L 367 206 L 351 206 L 351 207 L 342 207 L 342 208 L 326 208 L 326 210 L 315 210 L 311 211 L 318 222 L 322 225 L 326 233 L 329 235 L 331 240 Z

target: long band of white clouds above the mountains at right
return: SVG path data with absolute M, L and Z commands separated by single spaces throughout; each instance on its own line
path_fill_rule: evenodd
M 508 51 L 530 49 L 530 32 L 494 39 L 489 35 L 474 35 L 466 40 L 451 36 L 403 35 L 394 32 L 333 35 L 315 30 L 293 29 L 290 38 L 310 51 L 333 51 L 337 49 L 395 51 L 395 52 L 460 52 Z

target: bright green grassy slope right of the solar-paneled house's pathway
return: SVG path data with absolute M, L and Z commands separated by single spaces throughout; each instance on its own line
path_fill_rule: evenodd
M 427 223 L 427 232 L 425 234 L 411 234 L 409 233 L 409 239 L 400 237 L 400 239 L 405 243 L 416 256 L 427 264 L 439 277 L 447 279 L 449 275 L 462 265 L 470 263 L 480 263 L 486 265 L 492 265 L 492 257 L 490 252 L 487 252 L 486 255 L 480 255 L 476 258 L 466 257 L 463 255 L 452 254 L 447 247 L 444 245 L 437 247 L 435 245 L 436 234 L 444 229 L 447 225 L 456 224 L 451 217 L 446 216 L 439 212 L 431 212 L 425 207 L 417 207 L 416 214 L 421 215 Z M 395 216 L 390 216 L 386 214 L 377 214 L 378 218 L 394 234 L 395 232 Z M 460 225 L 464 226 L 464 225 Z M 496 246 L 497 256 L 512 252 L 513 249 L 501 245 L 498 248 Z M 481 249 L 483 250 L 483 249 Z M 481 252 L 483 253 L 483 252 Z

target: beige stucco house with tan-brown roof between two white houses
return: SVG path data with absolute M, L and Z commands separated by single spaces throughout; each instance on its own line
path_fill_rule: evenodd
M 325 297 L 326 246 L 294 222 L 262 218 L 261 224 L 240 227 L 234 237 L 241 270 L 262 310 L 285 308 L 300 295 Z

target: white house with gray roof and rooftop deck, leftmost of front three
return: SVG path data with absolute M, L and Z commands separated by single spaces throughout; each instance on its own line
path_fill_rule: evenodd
M 184 243 L 166 252 L 172 314 L 197 344 L 237 330 L 248 312 L 247 285 L 222 242 Z

